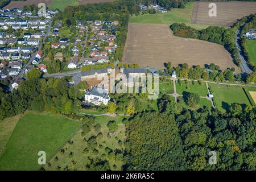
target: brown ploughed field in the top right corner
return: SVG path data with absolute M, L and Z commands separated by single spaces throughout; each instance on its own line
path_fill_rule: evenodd
M 217 16 L 210 17 L 209 3 L 195 2 L 191 23 L 231 26 L 237 19 L 256 13 L 256 2 L 215 2 Z

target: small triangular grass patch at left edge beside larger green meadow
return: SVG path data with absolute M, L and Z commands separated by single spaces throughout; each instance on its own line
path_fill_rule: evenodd
M 0 121 L 0 155 L 5 149 L 6 143 L 11 137 L 11 133 L 18 123 L 20 115 L 15 115 L 14 117 L 5 118 L 3 121 Z

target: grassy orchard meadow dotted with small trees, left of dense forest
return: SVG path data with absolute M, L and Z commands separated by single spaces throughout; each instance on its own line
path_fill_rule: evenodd
M 96 119 L 99 117 L 96 117 Z M 118 125 L 118 130 L 115 131 L 114 135 L 108 137 L 109 129 L 106 126 L 109 118 L 102 118 L 100 131 L 91 129 L 89 133 L 86 133 L 84 137 L 81 135 L 81 131 L 77 133 L 72 139 L 72 143 L 67 143 L 63 149 L 64 153 L 59 152 L 44 168 L 46 170 L 86 170 L 85 166 L 89 163 L 89 159 L 101 158 L 102 160 L 108 160 L 111 170 L 121 170 L 123 164 L 122 159 L 117 159 L 114 156 L 114 150 L 124 150 L 123 141 L 125 140 L 125 126 Z M 97 122 L 97 120 L 96 120 Z M 93 152 L 94 148 L 88 147 L 86 140 L 88 140 L 92 135 L 97 136 L 98 133 L 102 133 L 102 137 L 97 137 L 97 146 L 94 147 L 98 152 Z M 121 140 L 121 142 L 119 142 Z M 105 148 L 109 147 L 113 150 L 112 154 L 108 154 Z M 84 152 L 85 148 L 89 151 Z M 73 152 L 72 155 L 71 152 Z M 116 168 L 114 167 L 116 165 Z M 59 168 L 58 168 L 59 166 Z

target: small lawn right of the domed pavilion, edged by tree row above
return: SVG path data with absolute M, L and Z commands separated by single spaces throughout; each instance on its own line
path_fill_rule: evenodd
M 179 82 L 176 82 L 176 90 L 177 93 L 182 95 L 183 92 L 192 92 L 197 93 L 199 96 L 207 96 L 207 86 L 205 85 L 205 82 L 201 82 L 201 85 L 198 81 L 194 81 L 194 84 L 192 84 L 192 81 L 187 81 L 187 84 L 185 84 L 185 81 L 181 80 L 181 85 Z

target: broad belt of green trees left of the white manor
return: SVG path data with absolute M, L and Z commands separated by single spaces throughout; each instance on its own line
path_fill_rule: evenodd
M 65 78 L 40 78 L 40 71 L 32 69 L 28 80 L 19 83 L 19 89 L 6 92 L 0 88 L 0 120 L 26 110 L 50 111 L 53 114 L 72 114 L 81 109 L 81 97 L 88 85 L 83 82 L 70 86 Z

